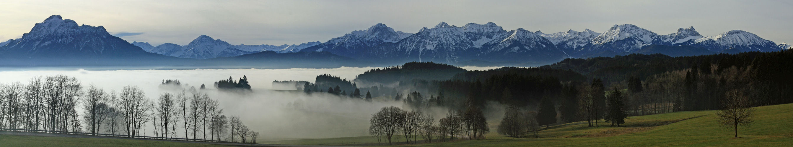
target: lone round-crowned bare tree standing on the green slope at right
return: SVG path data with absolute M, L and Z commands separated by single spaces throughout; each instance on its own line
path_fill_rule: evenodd
M 754 123 L 754 111 L 749 99 L 741 92 L 726 92 L 725 99 L 722 100 L 723 110 L 716 111 L 716 121 L 725 127 L 732 127 L 735 130 L 735 138 L 738 137 L 738 126 L 749 127 Z

